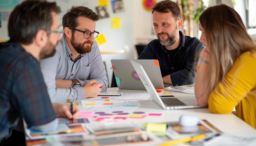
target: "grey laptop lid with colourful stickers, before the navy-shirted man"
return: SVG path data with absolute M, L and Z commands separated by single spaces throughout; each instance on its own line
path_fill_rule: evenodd
M 154 88 L 164 89 L 158 60 L 133 60 L 139 62 L 152 81 Z M 146 90 L 130 60 L 111 60 L 119 89 Z

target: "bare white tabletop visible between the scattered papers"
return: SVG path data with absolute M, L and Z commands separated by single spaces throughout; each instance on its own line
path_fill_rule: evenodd
M 119 90 L 118 88 L 108 88 L 107 91 L 121 91 L 124 93 L 146 93 L 146 91 L 142 90 Z M 180 92 L 173 92 L 175 97 L 179 96 L 191 96 L 191 94 L 187 93 L 180 93 Z M 85 99 L 88 100 L 88 99 Z M 256 130 L 245 123 L 240 118 L 236 117 L 234 114 L 212 114 L 209 113 L 208 108 L 193 108 L 193 109 L 177 109 L 177 110 L 164 110 L 160 106 L 158 106 L 151 98 L 149 100 L 139 100 L 141 106 L 137 108 L 135 111 L 145 112 L 148 113 L 162 113 L 161 116 L 146 116 L 144 119 L 132 119 L 127 118 L 123 122 L 132 122 L 136 126 L 141 127 L 142 124 L 146 124 L 148 122 L 154 123 L 164 123 L 164 122 L 177 122 L 180 118 L 180 115 L 195 115 L 199 119 L 207 119 L 211 124 L 216 126 L 220 131 L 223 133 L 227 133 L 230 135 L 237 135 L 237 136 L 244 136 L 244 137 L 252 137 L 256 135 Z M 84 108 L 79 105 L 79 109 L 84 111 Z M 133 112 L 135 112 L 133 111 Z M 110 116 L 111 117 L 111 116 Z M 113 115 L 114 117 L 114 115 Z M 127 116 L 126 116 L 127 117 Z M 91 124 L 93 125 L 100 125 L 102 123 L 91 120 Z M 144 144 L 137 144 L 139 146 L 153 146 L 157 144 L 162 144 L 163 141 L 154 141 L 152 143 L 144 143 Z M 128 144 L 130 145 L 130 144 Z M 187 146 L 186 144 L 178 144 L 179 146 Z

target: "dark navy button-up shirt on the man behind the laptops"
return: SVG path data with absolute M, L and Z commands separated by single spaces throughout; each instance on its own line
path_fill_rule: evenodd
M 159 40 L 151 41 L 138 59 L 157 59 L 162 77 L 171 74 L 173 85 L 187 85 L 195 83 L 196 66 L 204 44 L 197 38 L 184 36 L 180 31 L 180 45 L 171 58 L 165 46 Z

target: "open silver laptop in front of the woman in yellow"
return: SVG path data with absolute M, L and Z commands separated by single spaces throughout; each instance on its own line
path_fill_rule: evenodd
M 144 67 L 138 62 L 130 60 L 132 66 L 137 71 L 141 82 L 148 91 L 150 97 L 162 108 L 164 109 L 184 109 L 184 108 L 202 108 L 198 106 L 195 100 L 195 95 L 190 97 L 159 97 L 157 91 L 155 90 L 152 82 L 150 81 Z

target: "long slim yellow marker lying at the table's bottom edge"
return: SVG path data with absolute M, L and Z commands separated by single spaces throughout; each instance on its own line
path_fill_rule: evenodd
M 171 146 L 174 144 L 180 144 L 180 143 L 191 142 L 191 141 L 203 139 L 205 137 L 206 136 L 204 134 L 201 134 L 201 135 L 197 135 L 194 137 L 186 137 L 186 138 L 171 140 L 170 142 L 166 142 L 164 144 L 159 144 L 158 146 Z

